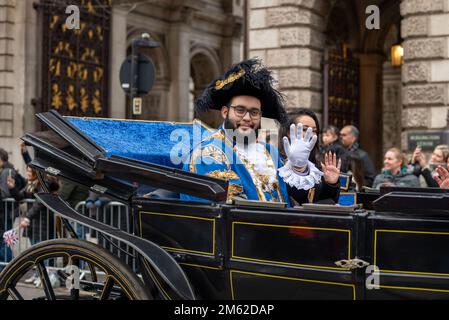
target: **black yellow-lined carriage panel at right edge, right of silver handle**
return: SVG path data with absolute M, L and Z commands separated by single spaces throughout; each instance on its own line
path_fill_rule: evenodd
M 449 299 L 448 220 L 382 213 L 368 226 L 379 276 L 367 299 Z

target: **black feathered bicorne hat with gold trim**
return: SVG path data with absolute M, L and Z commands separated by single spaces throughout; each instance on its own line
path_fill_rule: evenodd
M 195 101 L 195 111 L 221 110 L 235 96 L 253 96 L 260 100 L 262 116 L 283 123 L 286 119 L 284 99 L 273 88 L 271 71 L 259 59 L 249 59 L 232 66 L 223 76 L 212 81 Z

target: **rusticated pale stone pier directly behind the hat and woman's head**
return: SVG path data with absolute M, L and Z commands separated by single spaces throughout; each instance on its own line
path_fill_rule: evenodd
M 322 0 L 250 0 L 249 57 L 273 70 L 287 107 L 322 112 Z

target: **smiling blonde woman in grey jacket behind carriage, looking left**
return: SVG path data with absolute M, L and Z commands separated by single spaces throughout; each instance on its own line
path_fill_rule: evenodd
M 398 148 L 385 153 L 384 169 L 374 179 L 373 188 L 381 186 L 419 187 L 419 180 L 407 166 L 407 158 Z

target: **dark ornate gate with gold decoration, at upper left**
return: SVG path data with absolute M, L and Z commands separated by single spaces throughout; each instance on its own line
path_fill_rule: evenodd
M 68 29 L 66 8 L 80 9 L 80 28 Z M 42 109 L 63 115 L 108 115 L 111 0 L 41 0 Z

